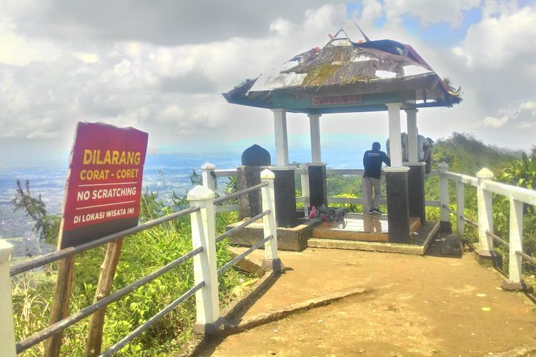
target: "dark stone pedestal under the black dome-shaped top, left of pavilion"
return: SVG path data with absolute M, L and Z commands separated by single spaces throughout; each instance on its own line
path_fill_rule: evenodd
M 243 190 L 261 183 L 261 171 L 264 166 L 238 166 L 237 188 Z M 238 197 L 238 220 L 257 216 L 262 212 L 260 191 L 254 191 Z

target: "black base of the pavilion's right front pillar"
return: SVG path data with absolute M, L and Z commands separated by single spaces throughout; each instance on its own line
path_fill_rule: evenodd
M 387 186 L 387 222 L 389 242 L 410 241 L 410 206 L 407 193 L 408 167 L 388 167 L 383 169 Z

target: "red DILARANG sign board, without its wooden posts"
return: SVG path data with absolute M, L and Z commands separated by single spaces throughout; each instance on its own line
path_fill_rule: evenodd
M 134 128 L 78 124 L 58 248 L 137 226 L 148 136 Z

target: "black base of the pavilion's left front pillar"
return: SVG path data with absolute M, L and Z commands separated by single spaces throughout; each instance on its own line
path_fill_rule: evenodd
M 294 167 L 272 166 L 274 172 L 275 219 L 278 227 L 296 223 L 296 185 Z

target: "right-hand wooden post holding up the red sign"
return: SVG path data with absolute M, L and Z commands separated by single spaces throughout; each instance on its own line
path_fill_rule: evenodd
M 119 238 L 117 241 L 108 243 L 106 246 L 106 255 L 101 265 L 101 272 L 99 275 L 99 283 L 96 286 L 94 303 L 100 301 L 102 298 L 109 296 L 111 290 L 111 284 L 114 282 L 114 276 L 119 262 L 119 256 L 121 255 L 121 245 L 123 244 L 123 238 Z M 106 307 L 101 308 L 91 315 L 89 320 L 89 333 L 86 342 L 86 357 L 99 356 L 102 346 L 102 331 L 104 328 L 104 316 L 106 314 Z

